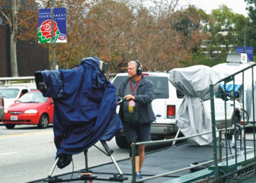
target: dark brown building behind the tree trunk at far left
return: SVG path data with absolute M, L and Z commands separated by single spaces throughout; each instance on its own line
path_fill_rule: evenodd
M 0 77 L 11 77 L 11 32 L 1 16 L 0 14 Z M 44 48 L 36 40 L 18 40 L 17 65 L 20 77 L 34 76 L 35 71 L 49 69 L 48 48 Z

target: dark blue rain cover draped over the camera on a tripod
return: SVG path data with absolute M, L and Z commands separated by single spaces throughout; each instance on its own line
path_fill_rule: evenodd
M 38 73 L 46 84 L 43 96 L 54 100 L 56 156 L 81 153 L 123 128 L 116 113 L 116 88 L 100 70 L 97 57 L 85 58 L 73 69 Z

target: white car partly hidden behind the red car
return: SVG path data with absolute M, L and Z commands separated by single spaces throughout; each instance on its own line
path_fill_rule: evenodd
M 37 90 L 36 85 L 0 87 L 0 93 L 2 93 L 2 97 L 4 98 L 5 107 L 10 106 L 15 100 L 32 90 Z

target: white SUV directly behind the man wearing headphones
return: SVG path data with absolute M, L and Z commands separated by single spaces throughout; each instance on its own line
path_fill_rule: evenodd
M 176 123 L 175 115 L 182 101 L 183 96 L 176 95 L 176 89 L 168 81 L 169 73 L 165 72 L 143 72 L 142 75 L 152 80 L 155 85 L 155 99 L 152 101 L 152 108 L 155 113 L 156 120 L 152 122 L 151 134 L 152 140 L 164 139 L 166 135 L 170 135 L 174 130 Z M 126 73 L 117 74 L 112 80 L 112 84 L 118 89 L 123 80 L 128 77 Z M 116 135 L 118 147 L 127 147 L 126 138 L 122 132 Z

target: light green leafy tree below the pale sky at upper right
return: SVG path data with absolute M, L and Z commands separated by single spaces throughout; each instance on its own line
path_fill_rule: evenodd
M 210 37 L 203 43 L 203 51 L 211 58 L 209 65 L 213 65 L 225 62 L 226 52 L 235 52 L 236 46 L 243 46 L 243 31 L 248 18 L 222 5 L 212 11 L 209 20 L 205 28 Z

